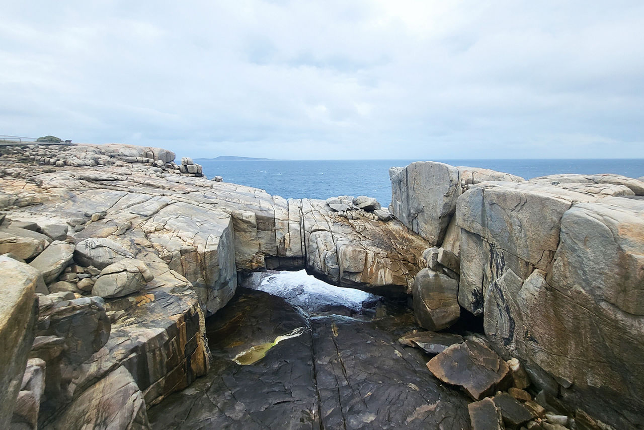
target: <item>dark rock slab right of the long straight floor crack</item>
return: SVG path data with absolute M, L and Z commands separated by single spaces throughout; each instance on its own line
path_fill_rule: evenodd
M 405 324 L 397 317 L 312 320 L 323 428 L 469 427 L 466 398 L 431 377 L 421 351 L 397 344 Z

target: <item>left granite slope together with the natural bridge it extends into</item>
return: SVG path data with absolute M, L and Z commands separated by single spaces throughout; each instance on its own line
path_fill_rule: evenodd
M 0 251 L 30 262 L 42 294 L 35 342 L 26 343 L 46 363 L 44 426 L 85 420 L 89 403 L 106 416 L 122 410 L 128 428 L 145 426 L 140 411 L 209 369 L 204 318 L 234 295 L 238 271 L 305 268 L 332 284 L 404 296 L 428 246 L 380 220 L 373 199 L 338 217 L 324 200 L 207 181 L 200 166 L 178 167 L 158 148 L 5 152 Z M 20 388 L 19 371 L 11 376 Z M 114 378 L 133 389 L 106 403 L 97 393 Z

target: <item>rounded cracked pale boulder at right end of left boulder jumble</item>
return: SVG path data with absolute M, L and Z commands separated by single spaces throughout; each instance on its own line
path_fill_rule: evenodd
M 91 293 L 104 298 L 137 293 L 154 276 L 141 260 L 126 259 L 110 264 L 100 271 Z

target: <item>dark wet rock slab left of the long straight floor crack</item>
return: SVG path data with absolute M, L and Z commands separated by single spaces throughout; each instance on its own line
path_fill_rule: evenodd
M 210 373 L 149 411 L 154 429 L 317 429 L 317 399 L 306 316 L 283 299 L 239 288 L 207 321 Z M 253 346 L 304 329 L 254 364 L 232 359 Z

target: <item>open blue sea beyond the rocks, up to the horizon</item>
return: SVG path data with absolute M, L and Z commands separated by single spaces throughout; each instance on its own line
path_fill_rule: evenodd
M 195 159 L 204 174 L 261 188 L 286 199 L 327 199 L 337 195 L 367 195 L 383 206 L 392 199 L 389 168 L 406 166 L 419 160 L 258 160 L 219 161 Z M 644 176 L 644 159 L 574 160 L 433 160 L 452 166 L 470 166 L 512 173 L 525 179 L 555 173 L 616 173 L 628 177 Z

